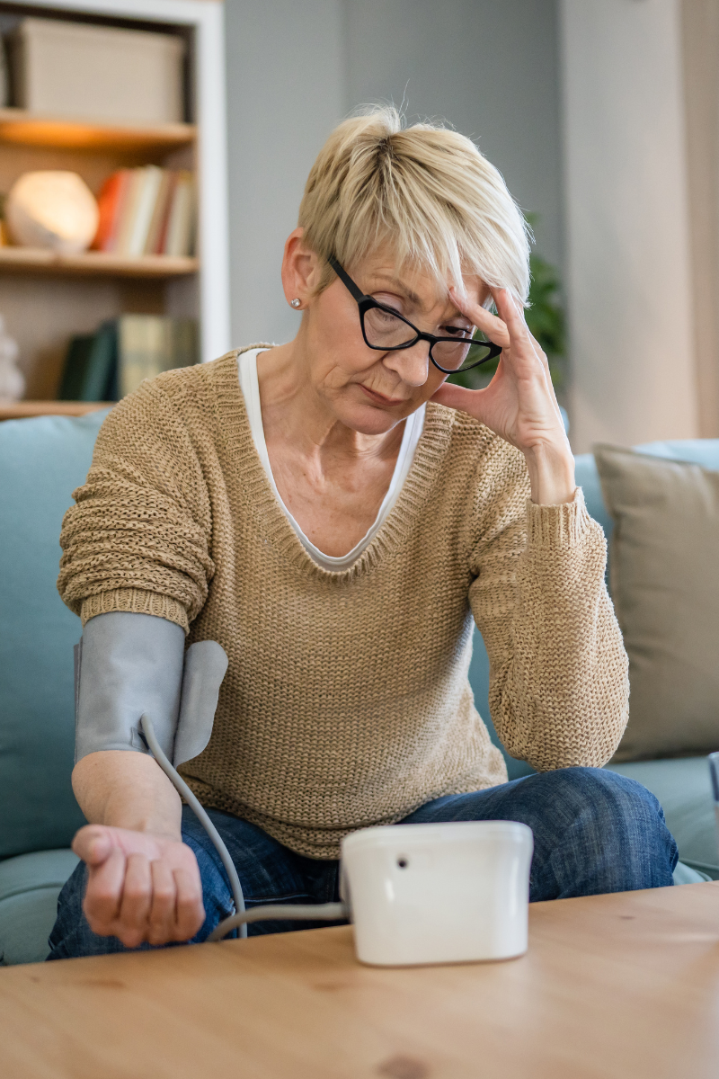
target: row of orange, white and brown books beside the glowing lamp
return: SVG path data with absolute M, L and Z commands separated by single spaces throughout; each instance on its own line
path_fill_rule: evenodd
M 107 178 L 93 247 L 127 258 L 192 255 L 195 245 L 195 181 L 186 169 L 121 168 Z

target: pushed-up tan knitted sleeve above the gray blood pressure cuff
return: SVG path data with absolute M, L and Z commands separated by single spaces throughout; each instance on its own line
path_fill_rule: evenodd
M 188 426 L 162 385 L 162 377 L 143 383 L 108 415 L 63 521 L 57 587 L 83 625 L 137 611 L 186 632 L 207 597 L 210 501 Z

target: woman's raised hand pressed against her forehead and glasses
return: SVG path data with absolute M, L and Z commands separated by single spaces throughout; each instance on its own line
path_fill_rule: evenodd
M 522 450 L 527 461 L 531 500 L 557 505 L 575 496 L 575 460 L 556 402 L 547 356 L 507 289 L 493 289 L 499 317 L 455 289 L 450 298 L 495 344 L 499 366 L 485 390 L 444 383 L 432 400 L 460 409 Z

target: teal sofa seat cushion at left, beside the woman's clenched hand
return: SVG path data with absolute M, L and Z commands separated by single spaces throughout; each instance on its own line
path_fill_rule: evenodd
M 57 897 L 77 864 L 71 850 L 38 850 L 0 862 L 0 965 L 47 957 Z

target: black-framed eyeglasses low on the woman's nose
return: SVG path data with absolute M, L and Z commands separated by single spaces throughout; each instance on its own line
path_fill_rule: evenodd
M 417 341 L 428 341 L 429 358 L 443 374 L 469 371 L 470 368 L 486 364 L 488 359 L 495 359 L 500 354 L 501 345 L 486 341 L 476 328 L 465 329 L 457 326 L 456 332 L 451 337 L 423 333 L 393 308 L 379 303 L 372 296 L 365 296 L 335 258 L 329 258 L 328 262 L 357 300 L 362 337 L 370 349 L 377 352 L 399 352 L 402 349 L 411 349 Z

